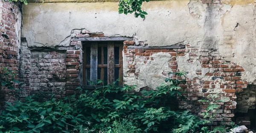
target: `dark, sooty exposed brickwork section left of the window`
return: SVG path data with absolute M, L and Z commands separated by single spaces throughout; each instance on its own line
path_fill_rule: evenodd
M 44 94 L 47 100 L 75 94 L 80 85 L 80 50 L 29 50 L 23 39 L 20 55 L 20 81 L 23 97 Z

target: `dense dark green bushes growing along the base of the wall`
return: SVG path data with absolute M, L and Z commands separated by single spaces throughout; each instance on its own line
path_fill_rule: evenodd
M 13 104 L 6 102 L 0 116 L 0 130 L 10 133 L 223 132 L 219 128 L 208 131 L 204 124 L 211 120 L 201 120 L 189 111 L 172 108 L 177 97 L 183 97 L 178 87 L 183 81 L 169 78 L 165 81 L 149 91 L 135 92 L 135 86 L 120 87 L 114 82 L 63 100 L 52 95 L 49 101 L 41 103 L 33 96 Z

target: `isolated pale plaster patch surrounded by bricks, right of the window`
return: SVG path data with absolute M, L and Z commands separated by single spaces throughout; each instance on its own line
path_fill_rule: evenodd
M 140 91 L 140 88 L 148 87 L 155 89 L 164 83 L 168 75 L 163 75 L 163 73 L 172 72 L 169 68 L 168 61 L 171 60 L 172 56 L 169 53 L 155 53 L 150 56 L 150 59 L 146 62 L 147 57 L 136 56 L 134 61 L 129 61 L 131 57 L 125 57 L 123 61 L 124 66 L 134 65 L 136 68 L 135 73 L 139 73 L 138 76 L 133 74 L 124 74 L 124 83 L 127 85 L 136 85 L 136 91 Z M 124 72 L 127 72 L 127 67 L 124 67 Z

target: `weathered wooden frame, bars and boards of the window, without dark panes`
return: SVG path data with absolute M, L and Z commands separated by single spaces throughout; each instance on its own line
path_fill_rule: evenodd
M 103 71 L 104 68 L 108 68 L 108 84 L 111 84 L 114 82 L 114 68 L 119 68 L 119 86 L 122 86 L 122 50 L 123 50 L 123 42 L 113 42 L 108 41 L 107 44 L 99 44 L 99 41 L 93 41 L 93 42 L 83 42 L 83 88 L 86 89 L 94 89 L 97 86 L 91 86 L 86 85 L 86 69 L 90 68 L 90 80 L 93 81 L 93 83 L 96 83 L 97 80 L 97 70 L 98 68 L 101 68 L 101 80 L 103 80 Z M 90 65 L 86 64 L 87 59 L 87 48 L 90 47 Z M 101 47 L 101 64 L 98 64 L 98 47 Z M 103 47 L 108 47 L 108 64 L 103 64 Z M 114 48 L 119 47 L 119 64 L 114 64 Z M 91 67 L 93 66 L 93 67 Z

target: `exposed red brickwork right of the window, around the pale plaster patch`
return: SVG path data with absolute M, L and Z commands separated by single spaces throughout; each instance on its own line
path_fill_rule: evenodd
M 138 71 L 140 69 L 137 66 L 138 62 L 143 61 L 146 64 L 148 60 L 154 60 L 152 55 L 156 53 L 169 53 L 172 58 L 168 61 L 168 65 L 172 72 L 177 72 L 180 68 L 183 68 L 181 66 L 186 65 L 188 67 L 185 71 L 188 74 L 192 73 L 190 78 L 186 78 L 186 84 L 180 85 L 182 91 L 185 92 L 184 96 L 187 97 L 187 100 L 180 100 L 179 108 L 190 110 L 200 116 L 201 112 L 206 111 L 205 109 L 209 103 L 199 103 L 197 101 L 205 99 L 209 94 L 218 94 L 219 98 L 215 100 L 225 100 L 225 102 L 215 103 L 219 107 L 214 111 L 216 118 L 214 124 L 220 124 L 222 121 L 226 125 L 231 124 L 236 111 L 236 93 L 244 91 L 248 84 L 247 81 L 241 79 L 241 75 L 244 72 L 241 66 L 224 60 L 218 51 L 214 49 L 200 49 L 189 45 L 186 45 L 185 49 L 127 49 L 129 45 L 134 45 L 134 42 L 124 43 L 124 55 L 126 61 L 128 61 L 127 66 L 123 66 L 124 73 L 126 73 L 124 78 L 138 80 L 136 77 L 141 74 Z M 144 60 L 141 60 L 142 58 Z M 186 64 L 179 63 L 184 58 L 186 59 Z M 192 68 L 194 67 L 192 64 L 195 61 L 198 65 L 196 69 Z M 206 69 L 207 72 L 205 71 Z M 193 72 L 194 70 L 195 72 Z M 193 73 L 195 74 L 193 75 Z M 167 76 L 168 72 L 163 72 L 162 74 Z M 128 83 L 129 80 L 125 82 Z M 253 94 L 251 97 L 255 99 L 255 93 Z M 243 95 L 239 95 L 239 97 L 243 97 Z M 255 107 L 255 101 L 253 102 L 248 104 L 252 104 Z M 242 105 L 244 102 L 238 103 Z

